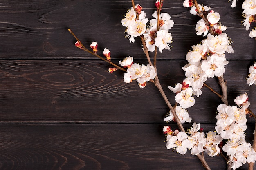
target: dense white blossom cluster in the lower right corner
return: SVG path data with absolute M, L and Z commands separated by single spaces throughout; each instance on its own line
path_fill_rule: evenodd
M 255 162 L 256 152 L 250 143 L 245 142 L 247 128 L 246 110 L 250 103 L 247 93 L 236 97 L 234 102 L 239 106 L 220 104 L 217 108 L 215 130 L 223 139 L 229 139 L 222 150 L 229 155 L 232 168 L 236 169 L 246 162 Z

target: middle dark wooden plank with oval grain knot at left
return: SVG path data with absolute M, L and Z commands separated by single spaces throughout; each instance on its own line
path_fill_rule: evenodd
M 184 64 L 184 60 L 157 63 L 172 104 L 175 94 L 168 86 L 185 78 L 181 69 Z M 234 106 L 235 97 L 247 92 L 254 111 L 255 86 L 248 86 L 245 80 L 251 64 L 230 61 L 225 79 L 229 104 Z M 110 74 L 107 69 L 108 64 L 99 60 L 1 60 L 0 121 L 163 122 L 168 109 L 153 84 L 149 82 L 141 89 L 137 82 L 124 83 L 121 71 Z M 206 83 L 220 91 L 216 79 Z M 187 110 L 193 121 L 214 123 L 216 107 L 222 102 L 208 88 L 202 91 L 199 98 L 195 97 L 195 106 Z

